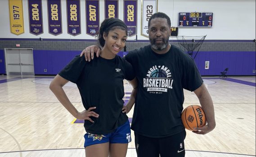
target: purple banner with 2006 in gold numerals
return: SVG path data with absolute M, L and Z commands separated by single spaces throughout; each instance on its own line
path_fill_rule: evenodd
M 81 34 L 80 0 L 67 0 L 67 33 Z

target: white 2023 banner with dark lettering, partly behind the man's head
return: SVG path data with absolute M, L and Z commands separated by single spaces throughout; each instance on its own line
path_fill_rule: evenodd
M 141 35 L 148 37 L 148 20 L 157 12 L 157 0 L 142 0 Z

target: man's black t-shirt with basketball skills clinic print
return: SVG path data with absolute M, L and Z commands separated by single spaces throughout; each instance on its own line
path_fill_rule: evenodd
M 148 137 L 184 131 L 181 121 L 183 88 L 194 91 L 203 83 L 193 59 L 171 45 L 165 54 L 145 46 L 126 55 L 138 79 L 131 129 Z

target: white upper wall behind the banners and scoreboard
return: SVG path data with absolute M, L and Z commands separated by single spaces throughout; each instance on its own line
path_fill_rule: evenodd
M 22 0 L 24 31 L 21 35 L 10 32 L 9 1 L 0 0 L 0 38 L 47 38 L 47 39 L 95 39 L 87 35 L 85 30 L 85 0 L 81 4 L 81 34 L 72 36 L 67 34 L 66 0 L 62 2 L 62 26 L 63 33 L 51 35 L 48 32 L 47 0 L 42 0 L 44 33 L 33 35 L 29 33 L 29 19 L 27 0 Z M 119 0 L 119 18 L 123 20 L 123 0 Z M 104 0 L 100 0 L 100 22 L 104 19 Z M 158 11 L 168 14 L 172 26 L 178 26 L 179 12 L 212 12 L 213 26 L 211 28 L 181 28 L 179 35 L 201 36 L 207 35 L 206 39 L 256 39 L 256 1 L 255 0 L 158 0 Z M 141 36 L 141 0 L 138 0 L 137 12 L 137 39 L 147 40 Z M 170 38 L 171 39 L 171 38 Z M 175 39 L 173 37 L 172 39 Z

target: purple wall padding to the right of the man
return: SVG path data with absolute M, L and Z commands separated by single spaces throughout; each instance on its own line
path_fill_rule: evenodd
M 193 52 L 193 57 L 195 52 Z M 227 75 L 256 75 L 256 52 L 198 52 L 194 59 L 202 76 L 220 75 L 229 68 Z M 205 69 L 205 61 L 210 61 L 209 69 Z

